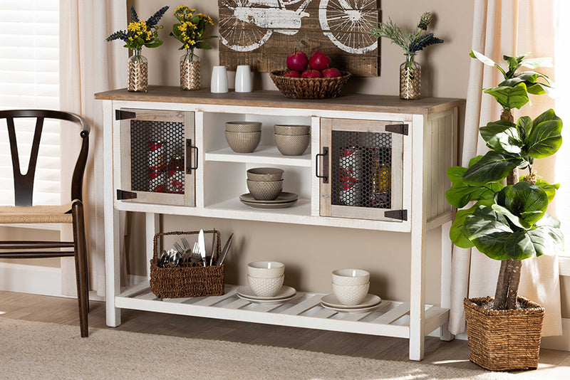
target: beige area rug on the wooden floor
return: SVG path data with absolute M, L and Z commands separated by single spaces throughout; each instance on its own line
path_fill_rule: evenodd
M 0 318 L 0 379 L 529 379 L 418 362 Z

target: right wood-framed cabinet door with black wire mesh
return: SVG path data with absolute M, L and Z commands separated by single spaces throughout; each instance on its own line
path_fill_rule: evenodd
M 321 216 L 403 221 L 402 122 L 321 119 Z

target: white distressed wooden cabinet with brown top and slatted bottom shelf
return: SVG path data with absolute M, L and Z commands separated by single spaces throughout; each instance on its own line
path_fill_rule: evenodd
M 445 324 L 450 302 L 448 231 L 455 211 L 445 201 L 450 186 L 445 169 L 455 165 L 457 114 L 464 100 L 405 101 L 379 95 L 294 100 L 274 91 L 210 94 L 160 86 L 150 86 L 147 93 L 113 90 L 95 94 L 95 99 L 102 102 L 104 118 L 108 326 L 118 326 L 120 310 L 126 308 L 403 337 L 410 339 L 413 360 L 423 358 L 425 335 L 430 332 L 441 327 L 442 339 L 452 339 Z M 224 122 L 236 120 L 263 123 L 255 152 L 238 154 L 227 146 Z M 275 124 L 311 125 L 306 154 L 279 153 L 273 142 Z M 165 127 L 172 125 L 177 137 L 168 140 Z M 184 159 L 183 194 L 150 191 L 152 186 L 145 188 L 144 181 L 133 187 L 136 168 L 149 163 L 147 155 L 135 151 L 146 152 L 147 142 L 157 140 L 167 142 L 174 149 L 170 154 Z M 348 156 L 357 157 L 361 176 L 345 175 L 343 160 Z M 245 171 L 259 166 L 285 169 L 284 190 L 299 194 L 299 202 L 272 210 L 242 204 L 239 195 L 247 193 Z M 347 178 L 358 183 L 357 189 L 345 186 Z M 407 233 L 411 260 L 408 273 L 402 275 L 410 278 L 410 297 L 372 312 L 346 314 L 321 307 L 322 295 L 311 292 L 298 292 L 298 297 L 283 304 L 264 305 L 237 297 L 237 285 L 226 285 L 222 296 L 170 300 L 157 299 L 148 282 L 121 289 L 118 211 L 146 214 L 147 262 L 159 214 Z M 426 234 L 438 227 L 442 227 L 441 302 L 426 305 Z M 379 250 L 374 254 L 382 255 Z

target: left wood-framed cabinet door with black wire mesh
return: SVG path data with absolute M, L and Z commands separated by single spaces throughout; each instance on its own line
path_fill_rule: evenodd
M 195 206 L 194 112 L 115 110 L 120 120 L 117 199 Z

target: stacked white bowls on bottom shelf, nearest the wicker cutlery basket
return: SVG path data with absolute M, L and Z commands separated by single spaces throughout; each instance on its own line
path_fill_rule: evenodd
M 276 261 L 255 261 L 247 264 L 247 283 L 258 297 L 273 297 L 285 280 L 285 264 Z

